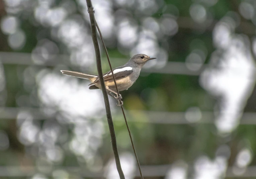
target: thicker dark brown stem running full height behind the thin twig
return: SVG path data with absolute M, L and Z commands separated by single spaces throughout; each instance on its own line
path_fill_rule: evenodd
M 103 79 L 101 59 L 100 59 L 100 49 L 99 49 L 99 43 L 97 40 L 97 32 L 96 32 L 95 19 L 94 19 L 94 10 L 92 7 L 91 0 L 86 0 L 86 3 L 87 3 L 87 8 L 88 8 L 88 13 L 90 16 L 90 23 L 91 23 L 91 30 L 92 30 L 92 41 L 93 41 L 93 45 L 94 45 L 94 49 L 95 49 L 97 70 L 98 70 L 101 90 L 102 90 L 104 102 L 105 102 L 107 122 L 108 122 L 110 137 L 111 137 L 111 141 L 112 141 L 111 144 L 112 144 L 112 148 L 113 148 L 113 152 L 114 152 L 116 168 L 117 168 L 120 179 L 125 179 L 122 168 L 121 168 L 119 155 L 118 155 L 114 124 L 113 124 L 113 120 L 112 120 L 112 116 L 111 116 L 108 94 L 107 94 L 107 90 L 106 90 L 104 79 Z

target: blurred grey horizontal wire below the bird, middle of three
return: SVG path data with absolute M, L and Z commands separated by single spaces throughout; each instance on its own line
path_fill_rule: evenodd
M 34 120 L 51 120 L 55 119 L 56 116 L 49 117 L 45 115 L 40 108 L 29 108 L 29 107 L 0 107 L 0 120 L 13 120 L 16 119 L 19 112 L 28 112 L 31 114 Z M 194 122 L 190 122 L 186 119 L 186 112 L 166 112 L 166 111 L 145 111 L 145 110 L 125 110 L 127 115 L 136 116 L 143 114 L 144 119 L 131 117 L 131 122 L 143 122 L 143 123 L 155 123 L 155 124 L 192 124 L 192 123 L 214 123 L 215 115 L 213 112 L 201 111 L 200 118 L 195 119 Z M 60 111 L 59 111 L 60 112 Z M 120 112 L 119 112 L 120 113 Z M 140 114 L 138 114 L 140 113 Z M 136 114 L 136 115 L 135 115 Z M 120 113 L 121 115 L 121 113 Z M 191 114 L 190 114 L 191 116 Z M 76 122 L 83 122 L 85 116 L 75 116 L 79 118 Z M 19 117 L 20 118 L 20 117 Z M 256 112 L 245 112 L 243 113 L 240 124 L 243 125 L 256 125 Z M 113 118 L 113 120 L 121 119 Z

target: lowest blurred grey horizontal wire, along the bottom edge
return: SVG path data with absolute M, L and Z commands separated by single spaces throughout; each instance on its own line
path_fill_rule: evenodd
M 135 167 L 135 166 L 134 166 Z M 159 177 L 165 176 L 167 172 L 173 167 L 171 164 L 167 165 L 142 165 L 141 169 L 144 177 Z M 207 167 L 211 170 L 211 167 Z M 232 178 L 250 178 L 256 177 L 256 166 L 247 166 L 240 175 L 233 171 L 236 168 L 229 166 L 226 171 L 226 177 Z M 42 173 L 46 176 L 52 176 L 54 171 L 64 170 L 70 173 L 89 178 L 104 178 L 104 171 L 91 172 L 88 169 L 80 167 L 52 167 L 52 166 L 0 166 L 0 177 L 31 177 L 36 173 Z M 216 170 L 216 167 L 212 167 Z M 40 172 L 42 171 L 42 172 Z M 135 177 L 140 177 L 139 170 L 135 172 Z

